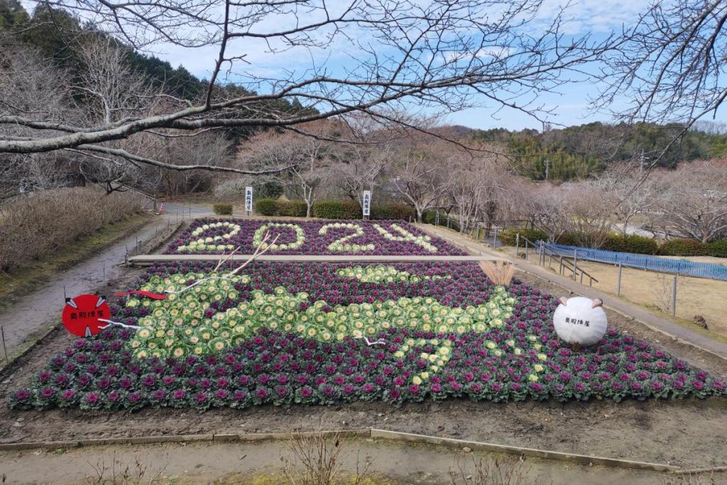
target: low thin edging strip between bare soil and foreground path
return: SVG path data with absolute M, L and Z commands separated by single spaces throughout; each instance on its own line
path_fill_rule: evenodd
M 104 446 L 113 444 L 161 444 L 161 443 L 194 443 L 194 442 L 220 442 L 220 443 L 254 443 L 259 441 L 286 440 L 292 435 L 302 436 L 337 436 L 342 438 L 379 438 L 387 441 L 403 441 L 407 443 L 430 444 L 435 446 L 446 446 L 453 449 L 469 448 L 473 451 L 495 452 L 503 454 L 515 454 L 518 456 L 545 458 L 547 460 L 559 460 L 573 462 L 579 465 L 601 465 L 614 468 L 630 468 L 635 470 L 650 470 L 657 472 L 672 473 L 704 473 L 709 470 L 681 470 L 674 465 L 663 463 L 639 462 L 634 460 L 622 460 L 619 458 L 597 457 L 587 454 L 574 454 L 554 452 L 547 449 L 523 448 L 521 446 L 510 446 L 481 441 L 469 441 L 455 438 L 440 438 L 438 436 L 419 435 L 414 433 L 402 433 L 399 431 L 380 430 L 377 428 L 366 428 L 358 430 L 326 430 L 305 433 L 243 433 L 243 434 L 194 434 L 194 435 L 172 435 L 172 436 L 140 436 L 137 438 L 92 438 L 75 441 L 29 441 L 20 443 L 2 443 L 0 452 L 30 450 L 30 449 L 62 449 L 77 448 L 80 446 Z M 722 467 L 727 469 L 727 467 Z

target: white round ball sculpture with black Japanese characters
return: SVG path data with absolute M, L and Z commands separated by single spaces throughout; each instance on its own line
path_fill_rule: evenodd
M 608 326 L 606 312 L 601 305 L 603 301 L 598 298 L 561 298 L 561 304 L 553 313 L 555 333 L 561 340 L 577 347 L 599 342 Z

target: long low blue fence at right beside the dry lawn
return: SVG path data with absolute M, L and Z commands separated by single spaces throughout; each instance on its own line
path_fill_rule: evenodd
M 603 249 L 566 246 L 565 244 L 540 244 L 544 244 L 546 249 L 555 252 L 556 254 L 566 257 L 576 257 L 577 260 L 607 262 L 614 265 L 620 263 L 624 266 L 629 266 L 630 268 L 727 281 L 727 266 L 725 265 L 713 265 L 708 262 L 671 260 L 665 257 L 647 256 L 646 254 L 604 251 Z

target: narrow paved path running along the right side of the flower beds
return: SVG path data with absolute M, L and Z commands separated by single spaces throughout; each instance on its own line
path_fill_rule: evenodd
M 437 228 L 433 225 L 419 225 L 419 228 L 422 229 L 422 231 L 429 232 L 433 236 L 441 237 L 442 239 L 446 239 L 446 241 L 449 241 L 452 244 L 461 246 L 471 254 L 498 254 L 499 256 L 502 256 L 501 252 L 489 249 L 486 246 L 483 246 L 483 244 L 479 244 L 472 239 L 468 239 L 465 236 L 460 236 L 459 234 L 453 233 L 452 231 Z M 571 280 L 570 278 L 564 278 L 563 276 L 553 274 L 549 270 L 529 261 L 519 259 L 511 261 L 520 270 L 553 281 L 556 284 L 559 284 L 564 288 L 569 289 L 575 294 L 579 294 L 588 298 L 601 298 L 601 300 L 603 300 L 603 304 L 606 307 L 616 310 L 619 313 L 624 313 L 625 315 L 631 316 L 632 318 L 635 318 L 636 320 L 640 321 L 651 329 L 667 334 L 670 337 L 674 337 L 682 342 L 694 345 L 698 348 L 701 348 L 702 350 L 706 350 L 707 352 L 710 352 L 715 356 L 719 356 L 720 358 L 727 359 L 727 344 L 723 342 L 712 340 L 709 337 L 705 337 L 704 335 L 694 332 L 691 329 L 675 324 L 665 318 L 656 316 L 654 315 L 654 313 L 650 313 L 635 305 L 624 302 L 617 297 L 612 297 L 611 295 L 604 294 L 603 292 L 598 291 L 598 289 L 591 288 L 590 286 L 585 286 L 578 283 L 577 281 Z

